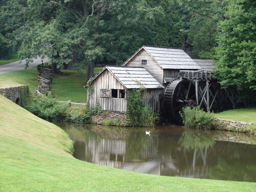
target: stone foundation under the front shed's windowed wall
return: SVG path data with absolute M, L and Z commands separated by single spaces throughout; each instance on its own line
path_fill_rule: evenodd
M 92 123 L 94 124 L 127 126 L 128 122 L 127 114 L 123 112 L 103 111 L 92 116 Z

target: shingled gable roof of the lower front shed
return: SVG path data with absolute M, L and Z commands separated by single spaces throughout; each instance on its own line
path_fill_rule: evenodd
M 126 89 L 141 88 L 141 85 L 146 89 L 164 88 L 143 67 L 105 66 L 92 81 L 105 70 L 109 70 Z

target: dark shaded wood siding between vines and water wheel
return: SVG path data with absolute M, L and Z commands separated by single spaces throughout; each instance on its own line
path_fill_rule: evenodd
M 161 111 L 161 97 L 164 89 L 147 89 L 143 93 L 142 99 L 152 106 L 154 112 Z

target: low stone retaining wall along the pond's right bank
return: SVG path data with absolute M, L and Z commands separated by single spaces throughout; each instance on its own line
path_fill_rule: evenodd
M 245 123 L 239 121 L 232 121 L 227 119 L 217 119 L 217 122 L 220 124 L 218 126 L 219 130 L 227 131 L 236 131 L 236 132 L 247 132 L 246 127 L 253 123 Z

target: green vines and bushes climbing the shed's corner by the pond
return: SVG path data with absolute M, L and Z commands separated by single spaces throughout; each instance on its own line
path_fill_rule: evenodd
M 154 113 L 151 106 L 145 104 L 142 93 L 145 89 L 129 90 L 127 97 L 127 115 L 131 126 L 154 126 L 158 120 L 158 114 Z

